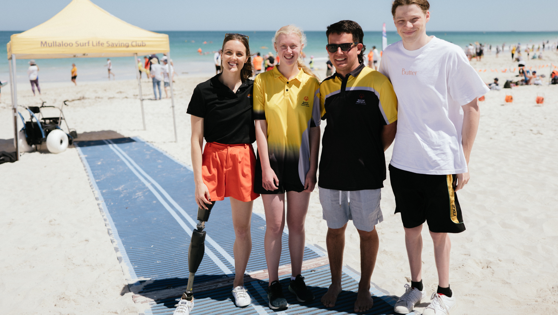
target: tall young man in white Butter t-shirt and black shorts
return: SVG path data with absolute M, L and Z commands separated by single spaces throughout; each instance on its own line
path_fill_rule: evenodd
M 489 91 L 459 46 L 426 35 L 429 7 L 426 0 L 393 1 L 393 21 L 402 41 L 386 47 L 379 69 L 391 80 L 398 100 L 389 175 L 411 268 L 411 285 L 405 285 L 395 304 L 401 314 L 426 297 L 421 277 L 425 221 L 434 241 L 438 289 L 423 314 L 447 314 L 455 308 L 448 233 L 465 230 L 455 191 L 469 181 L 469 155 L 480 117 L 477 98 Z

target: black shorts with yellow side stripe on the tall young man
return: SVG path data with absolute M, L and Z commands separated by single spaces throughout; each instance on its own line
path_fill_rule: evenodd
M 395 195 L 395 212 L 401 212 L 403 226 L 412 229 L 428 224 L 435 233 L 465 231 L 457 194 L 455 175 L 427 175 L 403 171 L 389 164 L 389 177 Z

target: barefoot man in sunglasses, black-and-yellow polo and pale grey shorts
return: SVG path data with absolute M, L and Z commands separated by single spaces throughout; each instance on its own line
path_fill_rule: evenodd
M 324 131 L 318 181 L 323 217 L 328 223 L 331 286 L 321 302 L 334 307 L 341 292 L 345 229 L 349 220 L 360 236 L 361 278 L 355 312 L 374 302 L 370 280 L 378 253 L 374 226 L 383 221 L 380 192 L 386 179 L 384 151 L 393 142 L 397 98 L 386 76 L 364 66 L 364 33 L 354 21 L 340 21 L 326 32 L 335 74 L 320 84 Z

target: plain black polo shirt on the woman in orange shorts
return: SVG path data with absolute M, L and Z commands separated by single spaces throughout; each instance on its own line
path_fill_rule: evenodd
M 218 74 L 194 89 L 186 113 L 204 118 L 206 142 L 253 143 L 256 128 L 252 114 L 253 80 L 246 80 L 233 93 Z

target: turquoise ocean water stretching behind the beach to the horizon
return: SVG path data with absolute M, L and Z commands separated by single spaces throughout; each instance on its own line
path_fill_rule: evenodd
M 228 31 L 234 32 L 234 31 Z M 9 36 L 19 32 L 0 31 L 0 81 L 9 80 L 6 44 Z M 171 59 L 179 76 L 199 76 L 214 74 L 213 52 L 220 49 L 225 31 L 169 31 L 166 33 L 170 39 Z M 260 52 L 262 55 L 273 52 L 272 37 L 275 32 L 270 31 L 238 31 L 249 36 L 252 53 Z M 470 42 L 481 42 L 487 45 L 541 45 L 542 41 L 549 41 L 549 45 L 558 42 L 558 32 L 427 32 L 443 40 L 453 42 L 465 47 Z M 325 31 L 306 32 L 307 45 L 304 47 L 306 62 L 310 56 L 315 57 L 318 67 L 325 67 L 328 54 L 325 50 L 327 38 Z M 388 45 L 401 40 L 397 32 L 387 32 Z M 205 43 L 204 43 L 205 42 Z M 364 32 L 364 45 L 367 51 L 376 46 L 382 49 L 382 32 Z M 541 46 L 542 47 L 542 46 Z M 554 44 L 556 47 L 556 44 Z M 202 54 L 198 54 L 198 49 Z M 2 57 L 3 56 L 3 57 Z M 141 56 L 143 57 L 143 56 Z M 133 57 L 111 58 L 114 74 L 117 80 L 134 79 L 136 71 Z M 143 62 L 143 58 L 141 58 Z M 79 81 L 108 80 L 107 60 L 105 58 L 71 58 L 71 59 L 39 59 L 36 60 L 40 67 L 40 82 L 70 81 L 71 64 L 78 67 Z M 17 81 L 25 83 L 27 79 L 28 60 L 17 60 Z M 323 63 L 323 64 L 322 64 Z

